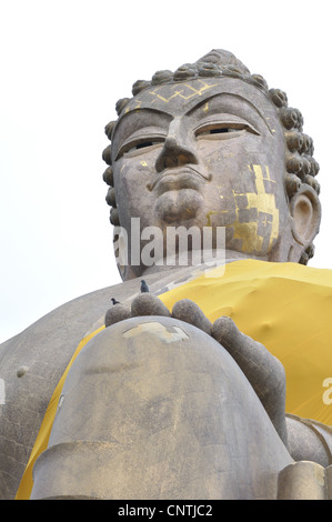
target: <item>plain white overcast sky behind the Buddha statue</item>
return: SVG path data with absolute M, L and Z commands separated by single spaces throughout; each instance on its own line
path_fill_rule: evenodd
M 301 110 L 321 165 L 310 265 L 332 269 L 326 0 L 0 0 L 0 342 L 120 282 L 104 126 L 138 79 L 227 49 Z

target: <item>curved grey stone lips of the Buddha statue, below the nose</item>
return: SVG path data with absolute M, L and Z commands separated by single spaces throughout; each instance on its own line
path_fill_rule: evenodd
M 171 169 L 163 170 L 160 174 L 155 177 L 152 183 L 148 183 L 147 187 L 150 191 L 152 191 L 155 187 L 158 187 L 159 184 L 162 184 L 163 181 L 168 184 L 173 184 L 175 189 L 177 188 L 179 189 L 193 188 L 194 189 L 197 188 L 198 181 L 200 183 L 202 182 L 207 183 L 208 181 L 210 181 L 210 178 L 208 175 L 204 175 L 202 172 L 200 172 L 200 170 L 191 165 L 172 167 Z M 193 187 L 190 187 L 191 184 Z

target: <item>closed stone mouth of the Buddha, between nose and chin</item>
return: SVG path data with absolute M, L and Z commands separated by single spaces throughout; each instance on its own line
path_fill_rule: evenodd
M 185 165 L 162 171 L 155 177 L 152 183 L 148 183 L 149 191 L 155 190 L 158 195 L 169 190 L 193 189 L 200 190 L 202 184 L 209 182 L 210 177 L 203 174 L 198 169 Z

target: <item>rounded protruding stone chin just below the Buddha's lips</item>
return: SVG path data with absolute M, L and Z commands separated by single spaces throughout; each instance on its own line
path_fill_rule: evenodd
M 195 219 L 203 202 L 202 194 L 197 190 L 170 190 L 155 201 L 154 214 L 164 223 L 183 224 Z

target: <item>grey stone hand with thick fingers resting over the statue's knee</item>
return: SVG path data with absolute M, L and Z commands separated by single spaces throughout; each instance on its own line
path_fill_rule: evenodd
M 203 330 L 218 341 L 239 364 L 281 439 L 286 443 L 285 373 L 281 362 L 263 344 L 242 333 L 231 318 L 221 317 L 212 324 L 202 310 L 189 299 L 178 301 L 170 312 L 159 298 L 150 293 L 139 294 L 132 301 L 131 309 L 121 304 L 110 309 L 105 325 L 142 315 L 179 319 Z

